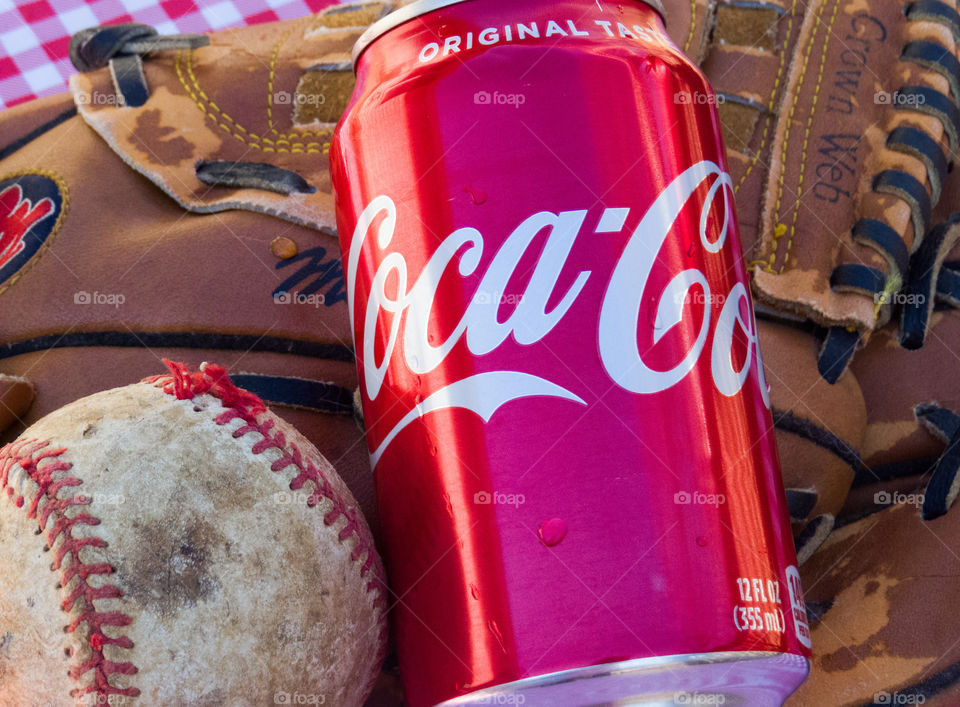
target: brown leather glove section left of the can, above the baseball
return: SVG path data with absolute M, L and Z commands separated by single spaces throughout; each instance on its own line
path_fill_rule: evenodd
M 0 442 L 161 358 L 216 360 L 376 526 L 326 151 L 353 41 L 387 9 L 208 38 L 88 30 L 72 95 L 0 114 L 0 374 L 36 387 L 27 412 L 3 389 L 19 419 Z

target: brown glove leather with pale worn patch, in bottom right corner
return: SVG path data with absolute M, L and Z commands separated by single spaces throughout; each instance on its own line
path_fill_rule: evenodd
M 923 521 L 907 504 L 834 531 L 800 568 L 807 602 L 829 608 L 811 622 L 813 670 L 787 705 L 873 704 L 956 669 L 958 548 L 960 514 Z M 957 704 L 951 695 L 927 703 Z

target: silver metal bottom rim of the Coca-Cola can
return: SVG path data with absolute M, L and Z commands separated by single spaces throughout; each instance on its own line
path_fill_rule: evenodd
M 462 695 L 437 707 L 778 707 L 810 670 L 794 653 L 727 651 L 639 658 L 524 678 Z

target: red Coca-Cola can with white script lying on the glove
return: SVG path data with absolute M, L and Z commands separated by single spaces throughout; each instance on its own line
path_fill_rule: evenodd
M 781 704 L 810 632 L 715 95 L 628 0 L 415 2 L 331 147 L 410 705 Z

